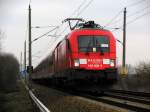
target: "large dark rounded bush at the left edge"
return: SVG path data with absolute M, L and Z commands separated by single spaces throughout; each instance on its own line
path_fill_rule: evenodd
M 16 88 L 19 63 L 11 54 L 0 54 L 0 89 L 11 91 Z

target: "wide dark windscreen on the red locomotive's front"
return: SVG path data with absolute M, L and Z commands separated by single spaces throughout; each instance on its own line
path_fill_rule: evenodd
M 109 38 L 107 36 L 78 36 L 79 52 L 109 52 Z

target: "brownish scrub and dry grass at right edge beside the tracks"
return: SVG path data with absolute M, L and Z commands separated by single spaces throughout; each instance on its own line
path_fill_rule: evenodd
M 120 78 L 116 89 L 150 92 L 150 63 L 140 62 L 136 67 L 136 74 L 128 74 Z

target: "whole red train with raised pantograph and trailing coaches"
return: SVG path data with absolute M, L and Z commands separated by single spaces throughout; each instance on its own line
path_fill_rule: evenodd
M 70 20 L 76 19 L 66 21 L 70 24 Z M 70 33 L 34 68 L 32 79 L 115 83 L 118 72 L 116 38 L 112 32 L 94 21 L 78 22 L 70 28 Z

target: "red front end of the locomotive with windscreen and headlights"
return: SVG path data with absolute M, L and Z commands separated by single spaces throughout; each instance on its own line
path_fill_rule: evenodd
M 116 40 L 103 29 L 79 29 L 70 38 L 73 77 L 116 81 Z

